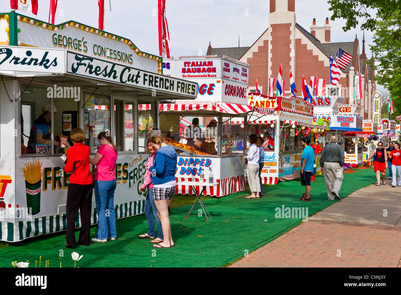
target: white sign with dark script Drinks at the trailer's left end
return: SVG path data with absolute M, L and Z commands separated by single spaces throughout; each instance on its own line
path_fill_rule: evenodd
M 65 73 L 65 51 L 21 46 L 0 46 L 0 70 Z

